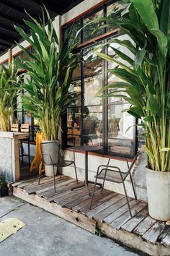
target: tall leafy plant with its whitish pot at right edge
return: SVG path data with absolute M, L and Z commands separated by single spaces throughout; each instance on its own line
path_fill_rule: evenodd
M 128 113 L 141 120 L 148 155 L 149 213 L 157 220 L 167 221 L 170 219 L 170 1 L 130 0 L 121 7 L 121 12 L 117 9 L 100 20 L 106 26 L 118 27 L 120 35 L 129 36 L 130 40 L 113 38 L 109 43 L 125 47 L 133 57 L 114 44 L 110 47 L 115 56 L 97 51 L 102 58 L 117 64 L 108 71 L 120 78 L 120 82 L 102 90 L 107 90 L 106 97 L 120 95 L 128 101 Z

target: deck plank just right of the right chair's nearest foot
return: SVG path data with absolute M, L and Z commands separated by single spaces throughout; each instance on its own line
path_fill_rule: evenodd
M 121 226 L 121 229 L 124 229 L 128 232 L 132 232 L 135 227 L 144 220 L 148 216 L 148 206 L 146 208 L 143 208 L 143 210 L 140 210 L 139 213 L 137 213 L 133 218 L 130 218 L 129 221 L 127 221 L 123 226 Z

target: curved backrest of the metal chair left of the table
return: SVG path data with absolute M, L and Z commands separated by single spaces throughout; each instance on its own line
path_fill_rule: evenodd
M 47 141 L 40 143 L 40 153 L 42 163 L 45 165 L 57 165 L 60 145 L 57 141 Z

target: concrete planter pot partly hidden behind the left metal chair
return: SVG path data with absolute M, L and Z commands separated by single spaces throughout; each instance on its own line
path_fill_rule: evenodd
M 43 153 L 48 154 L 51 156 L 53 164 L 58 163 L 58 147 L 55 144 L 50 143 L 49 140 L 43 140 L 43 143 L 47 144 L 43 147 Z M 60 143 L 59 140 L 55 140 Z M 53 176 L 53 166 L 51 166 L 51 161 L 48 155 L 44 155 L 45 159 L 45 176 Z M 57 174 L 57 167 L 54 167 L 55 175 Z

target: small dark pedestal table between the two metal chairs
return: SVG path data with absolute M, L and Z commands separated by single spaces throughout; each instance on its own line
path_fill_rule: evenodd
M 85 153 L 85 180 L 84 180 L 84 184 L 73 187 L 71 190 L 79 189 L 80 187 L 84 187 L 84 186 L 86 186 L 88 188 L 89 183 L 94 184 L 94 182 L 90 182 L 89 179 L 88 179 L 88 152 L 89 151 L 101 150 L 101 149 L 102 149 L 102 147 L 89 146 L 89 145 L 75 146 L 75 147 L 71 148 L 71 150 L 73 150 L 73 151 L 84 151 L 84 153 Z M 101 186 L 101 184 L 99 184 L 99 185 Z

